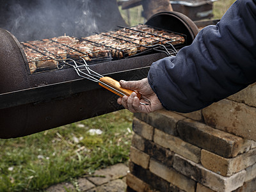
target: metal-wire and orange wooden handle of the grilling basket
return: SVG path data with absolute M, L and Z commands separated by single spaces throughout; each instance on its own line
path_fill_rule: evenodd
M 74 61 L 72 59 L 68 59 L 71 62 L 63 61 L 63 63 L 64 63 L 64 65 L 69 65 L 71 67 L 74 67 L 78 76 L 83 77 L 85 79 L 89 79 L 94 82 L 97 82 L 97 83 L 99 83 L 100 86 L 106 88 L 107 90 L 115 93 L 116 95 L 118 95 L 120 97 L 124 97 L 124 95 L 127 95 L 129 97 L 132 92 L 135 92 L 137 94 L 137 97 L 141 101 L 143 101 L 143 102 L 140 102 L 140 104 L 142 104 L 142 105 L 150 105 L 151 104 L 150 100 L 142 97 L 142 95 L 140 93 L 136 92 L 136 90 L 129 90 L 129 89 L 122 88 L 118 81 L 116 81 L 115 79 L 112 79 L 111 77 L 104 77 L 104 76 L 98 74 L 97 72 L 93 71 L 90 68 L 90 66 L 86 63 L 84 58 L 81 58 L 81 59 L 83 60 L 84 63 Z M 64 67 L 64 66 L 62 66 L 62 67 Z

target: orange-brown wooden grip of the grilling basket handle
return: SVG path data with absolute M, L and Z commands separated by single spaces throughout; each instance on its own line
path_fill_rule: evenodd
M 107 90 L 115 93 L 116 95 L 123 97 L 124 95 L 127 95 L 128 97 L 131 95 L 132 92 L 135 92 L 134 90 L 129 90 L 122 88 L 120 83 L 116 81 L 115 79 L 112 79 L 111 77 L 101 77 L 99 79 L 99 85 L 103 86 Z M 137 92 L 135 92 L 137 93 Z M 141 99 L 141 94 L 137 93 L 137 97 Z

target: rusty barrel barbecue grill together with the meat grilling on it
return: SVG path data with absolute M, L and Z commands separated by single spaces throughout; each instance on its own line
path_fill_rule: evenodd
M 163 38 L 155 32 L 143 33 L 143 28 L 172 33 L 174 38 Z M 10 32 L 0 29 L 0 138 L 26 136 L 123 109 L 116 103 L 117 95 L 77 76 L 72 65 L 86 64 L 90 70 L 117 81 L 142 79 L 147 77 L 152 62 L 175 55 L 191 44 L 197 33 L 195 24 L 177 12 L 157 13 L 145 25 L 120 26 L 96 35 L 99 39 L 105 36 L 118 40 L 126 47 L 96 41 L 95 35 L 19 42 Z M 141 45 L 138 42 L 142 40 L 136 39 L 135 34 L 144 40 L 148 35 L 147 40 L 151 41 Z M 61 38 L 72 40 L 67 44 Z M 85 52 L 83 46 L 74 47 L 72 42 L 91 46 L 90 51 Z M 99 48 L 104 54 L 99 54 Z M 31 59 L 29 51 L 41 57 Z M 40 67 L 38 63 L 43 64 Z M 86 67 L 82 71 L 87 72 Z

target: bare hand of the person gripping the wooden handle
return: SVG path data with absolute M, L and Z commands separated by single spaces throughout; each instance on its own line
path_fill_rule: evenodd
M 151 113 L 163 108 L 161 102 L 158 100 L 156 93 L 153 92 L 152 88 L 148 84 L 148 79 L 141 79 L 140 81 L 120 81 L 122 88 L 130 90 L 136 90 L 141 93 L 145 99 L 150 100 L 150 105 L 140 104 L 140 99 L 137 94 L 133 92 L 130 97 L 126 95 L 118 98 L 118 104 L 122 104 L 124 108 L 129 109 L 132 113 Z M 141 100 L 141 102 L 145 102 Z

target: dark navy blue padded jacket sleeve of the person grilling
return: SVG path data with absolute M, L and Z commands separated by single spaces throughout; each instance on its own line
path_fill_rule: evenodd
M 256 0 L 237 0 L 177 56 L 152 63 L 148 82 L 164 108 L 188 113 L 256 81 Z

